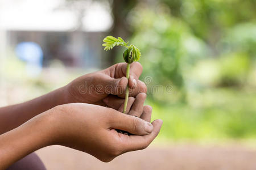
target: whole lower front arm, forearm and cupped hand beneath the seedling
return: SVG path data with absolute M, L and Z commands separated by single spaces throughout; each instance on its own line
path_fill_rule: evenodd
M 138 96 L 141 97 L 130 98 L 128 114 L 99 105 L 73 103 L 59 105 L 35 116 L 1 135 L 0 169 L 6 169 L 31 152 L 49 145 L 74 148 L 102 162 L 110 162 L 128 151 L 146 148 L 158 135 L 163 122 L 155 120 L 150 124 L 152 109 L 143 107 L 138 101 L 143 100 L 145 94 Z M 133 113 L 144 120 L 132 116 Z M 134 135 L 121 134 L 115 129 Z

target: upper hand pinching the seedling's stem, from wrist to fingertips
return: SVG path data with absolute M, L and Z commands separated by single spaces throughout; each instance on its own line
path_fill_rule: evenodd
M 65 103 L 89 103 L 106 106 L 103 99 L 108 95 L 114 95 L 116 100 L 125 97 L 127 83 L 130 87 L 129 96 L 137 96 L 139 92 L 146 93 L 147 87 L 141 82 L 139 76 L 142 66 L 139 62 L 133 62 L 130 66 L 130 78 L 126 76 L 127 63 L 118 63 L 108 69 L 82 75 L 73 80 L 64 89 L 67 100 Z M 112 102 L 114 100 L 112 98 Z M 110 104 L 111 105 L 111 104 Z

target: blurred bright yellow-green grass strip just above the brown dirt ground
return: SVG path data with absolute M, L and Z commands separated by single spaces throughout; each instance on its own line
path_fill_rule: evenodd
M 193 94 L 192 104 L 159 104 L 148 101 L 153 117 L 164 120 L 160 138 L 171 140 L 246 139 L 256 137 L 256 93 L 229 88 Z

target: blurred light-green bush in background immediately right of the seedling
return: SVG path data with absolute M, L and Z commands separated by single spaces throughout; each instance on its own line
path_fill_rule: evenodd
M 143 77 L 151 76 L 156 84 L 172 84 L 183 88 L 181 65 L 184 63 L 184 37 L 189 38 L 189 29 L 185 23 L 171 18 L 163 13 L 156 14 L 144 5 L 138 6 L 131 12 L 131 25 L 135 32 L 131 42 L 138 45 L 142 51 L 141 63 Z M 149 84 L 148 84 L 149 85 Z M 185 99 L 181 91 L 180 99 Z M 154 94 L 162 95 L 162 94 Z

